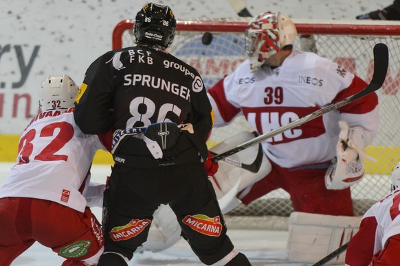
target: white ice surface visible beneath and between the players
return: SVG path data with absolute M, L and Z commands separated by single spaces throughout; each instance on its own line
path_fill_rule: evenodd
M 0 162 L 0 186 L 8 175 L 12 163 Z M 92 168 L 92 181 L 104 182 L 111 169 L 108 165 L 94 165 Z M 93 213 L 101 219 L 101 208 L 93 208 Z M 229 230 L 228 235 L 232 239 L 236 250 L 247 255 L 252 265 L 303 265 L 301 263 L 289 263 L 285 260 L 285 248 L 287 243 L 287 231 L 267 230 Z M 63 258 L 52 252 L 48 247 L 35 243 L 11 266 L 56 266 L 63 263 Z M 135 254 L 129 265 L 141 266 L 189 266 L 203 265 L 199 258 L 190 250 L 183 239 L 164 252 L 143 252 Z

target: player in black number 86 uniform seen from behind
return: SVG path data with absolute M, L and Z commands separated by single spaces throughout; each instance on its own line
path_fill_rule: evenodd
M 146 241 L 160 204 L 170 204 L 184 239 L 205 265 L 251 265 L 227 237 L 204 167 L 213 114 L 203 80 L 166 51 L 175 27 L 168 6 L 145 5 L 133 28 L 137 46 L 95 60 L 76 99 L 82 132 L 114 130 L 100 266 L 127 265 Z

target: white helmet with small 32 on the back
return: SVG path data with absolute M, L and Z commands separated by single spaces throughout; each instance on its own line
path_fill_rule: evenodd
M 78 89 L 68 75 L 47 76 L 38 92 L 39 107 L 42 111 L 73 107 Z

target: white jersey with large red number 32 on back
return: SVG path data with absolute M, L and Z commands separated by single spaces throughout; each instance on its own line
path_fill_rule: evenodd
M 21 134 L 16 165 L 0 190 L 1 197 L 32 197 L 63 204 L 80 212 L 87 205 L 82 191 L 98 149 L 109 148 L 99 136 L 83 134 L 74 108 L 36 115 Z M 111 143 L 111 138 L 110 138 Z

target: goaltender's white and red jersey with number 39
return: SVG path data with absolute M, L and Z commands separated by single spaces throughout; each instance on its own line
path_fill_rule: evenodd
M 214 126 L 227 125 L 237 114 L 265 134 L 315 110 L 354 95 L 366 82 L 339 64 L 315 53 L 293 50 L 282 66 L 263 66 L 251 73 L 249 61 L 208 90 Z M 375 93 L 328 112 L 263 142 L 268 158 L 281 167 L 326 162 L 335 157 L 344 120 L 350 127 L 377 132 L 379 110 Z

